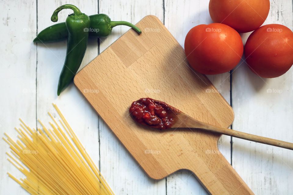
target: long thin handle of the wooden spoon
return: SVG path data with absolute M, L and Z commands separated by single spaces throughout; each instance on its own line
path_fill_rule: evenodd
M 237 137 L 237 138 L 241 138 L 244 140 L 255 141 L 258 143 L 262 143 L 262 144 L 268 144 L 268 145 L 272 145 L 272 146 L 277 146 L 277 147 L 282 147 L 282 148 L 287 148 L 289 150 L 293 150 L 293 144 L 290 142 L 275 140 L 275 139 L 271 139 L 268 137 L 252 135 L 252 134 L 244 133 L 241 131 L 235 131 L 233 129 L 226 129 L 226 128 L 213 126 L 213 125 L 209 125 L 209 124 L 204 124 L 204 123 L 202 124 L 200 129 L 204 129 L 204 130 L 207 130 L 210 132 L 215 132 L 215 133 L 221 133 L 221 134 L 232 136 L 232 137 Z

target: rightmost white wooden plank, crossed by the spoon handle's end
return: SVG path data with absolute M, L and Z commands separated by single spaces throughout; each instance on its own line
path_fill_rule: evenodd
M 283 24 L 292 30 L 292 1 L 270 1 L 264 24 Z M 243 34 L 246 41 L 250 33 Z M 244 63 L 233 72 L 233 129 L 293 142 L 292 73 L 263 79 Z M 272 90 L 272 93 L 269 93 Z M 277 93 L 281 91 L 281 93 Z M 233 138 L 233 167 L 255 194 L 291 194 L 293 152 Z

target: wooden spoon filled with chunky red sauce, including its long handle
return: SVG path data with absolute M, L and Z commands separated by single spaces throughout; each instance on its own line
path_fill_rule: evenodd
M 293 150 L 293 144 L 290 142 L 261 137 L 200 122 L 165 102 L 151 98 L 141 98 L 134 101 L 129 108 L 129 113 L 137 122 L 154 128 L 196 128 Z

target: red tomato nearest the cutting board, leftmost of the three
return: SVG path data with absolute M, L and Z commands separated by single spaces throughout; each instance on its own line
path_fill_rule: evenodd
M 220 23 L 193 27 L 186 35 L 184 48 L 190 66 L 202 74 L 228 72 L 243 54 L 240 35 Z

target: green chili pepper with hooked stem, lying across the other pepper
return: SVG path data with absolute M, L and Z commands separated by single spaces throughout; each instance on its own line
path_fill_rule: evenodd
M 89 37 L 89 31 L 85 29 L 90 27 L 89 16 L 81 13 L 77 7 L 70 4 L 61 5 L 57 8 L 51 17 L 52 22 L 58 21 L 58 13 L 62 9 L 72 9 L 74 13 L 70 14 L 65 22 L 68 31 L 67 52 L 64 66 L 59 77 L 57 95 L 60 95 L 73 80 L 81 64 Z

